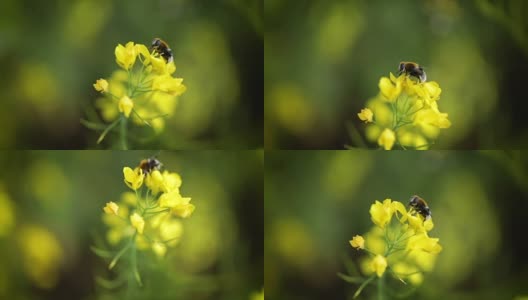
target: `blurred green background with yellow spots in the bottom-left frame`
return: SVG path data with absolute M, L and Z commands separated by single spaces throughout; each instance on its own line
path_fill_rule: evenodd
M 90 246 L 104 240 L 105 203 L 130 191 L 123 167 L 153 154 L 0 152 L 9 170 L 0 175 L 0 299 L 123 299 L 126 287 L 111 294 L 96 282 L 113 273 Z M 128 299 L 249 299 L 264 283 L 263 153 L 162 151 L 158 159 L 181 175 L 196 210 L 164 260 L 140 254 L 144 287 Z

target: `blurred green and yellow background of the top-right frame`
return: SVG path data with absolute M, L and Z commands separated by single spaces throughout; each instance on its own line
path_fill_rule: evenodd
M 527 145 L 525 1 L 269 0 L 264 14 L 266 148 L 358 147 L 346 124 L 364 134 L 357 113 L 400 61 L 442 88 L 452 126 L 434 149 Z

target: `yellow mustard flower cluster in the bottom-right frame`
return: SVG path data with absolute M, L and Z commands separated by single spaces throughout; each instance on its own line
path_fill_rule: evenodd
M 442 251 L 439 239 L 429 236 L 434 227 L 432 218 L 425 219 L 391 199 L 376 200 L 370 207 L 370 217 L 375 226 L 349 241 L 353 248 L 368 254 L 360 264 L 363 273 L 370 275 L 367 281 L 382 280 L 390 273 L 403 283 L 421 284 L 424 272 L 432 271 Z

